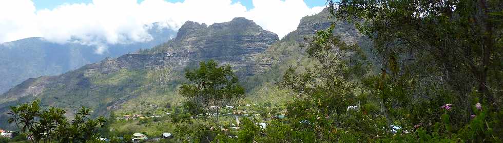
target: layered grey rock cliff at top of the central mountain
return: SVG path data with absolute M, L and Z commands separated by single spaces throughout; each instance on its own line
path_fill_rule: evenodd
M 277 34 L 265 31 L 254 21 L 242 17 L 210 26 L 187 21 L 175 40 L 152 49 L 149 54 L 165 53 L 190 59 L 182 60 L 179 65 L 183 65 L 182 62 L 215 59 L 236 69 L 247 68 L 245 74 L 253 75 L 270 65 L 257 55 L 277 41 Z

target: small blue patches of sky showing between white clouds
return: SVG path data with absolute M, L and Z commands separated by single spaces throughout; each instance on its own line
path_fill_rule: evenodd
M 141 2 L 143 0 L 138 0 L 138 2 Z M 183 2 L 184 0 L 165 0 L 167 2 Z M 35 8 L 37 10 L 41 9 L 53 9 L 59 5 L 62 4 L 76 4 L 76 3 L 91 3 L 92 0 L 33 0 L 33 3 L 35 4 Z M 233 0 L 233 2 L 240 2 L 242 5 L 246 7 L 246 9 L 251 9 L 253 8 L 253 4 L 251 3 L 251 0 Z M 317 6 L 324 6 L 325 5 L 325 0 L 304 0 L 304 3 L 307 4 L 308 7 L 317 7 Z

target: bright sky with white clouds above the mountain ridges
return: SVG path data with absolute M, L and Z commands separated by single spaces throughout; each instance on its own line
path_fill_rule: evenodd
M 95 46 L 144 42 L 153 22 L 178 30 L 187 20 L 211 25 L 234 17 L 281 38 L 323 8 L 325 0 L 2 0 L 0 43 L 28 37 Z

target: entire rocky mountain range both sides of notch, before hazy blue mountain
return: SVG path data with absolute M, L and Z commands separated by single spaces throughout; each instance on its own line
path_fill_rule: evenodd
M 34 98 L 41 99 L 43 106 L 68 110 L 69 116 L 81 106 L 91 107 L 93 115 L 106 115 L 112 110 L 139 112 L 143 104 L 176 104 L 182 100 L 177 89 L 185 82 L 184 69 L 209 59 L 233 65 L 247 94 L 268 90 L 281 80 L 286 68 L 309 63 L 299 45 L 304 37 L 330 27 L 334 21 L 328 20 L 328 16 L 330 13 L 325 9 L 302 18 L 298 29 L 281 40 L 245 18 L 210 26 L 187 21 L 175 39 L 151 49 L 106 58 L 61 75 L 18 84 L 0 94 L 0 121 L 8 117 L 5 113 L 9 106 Z M 369 40 L 346 22 L 337 22 L 334 33 L 346 42 L 367 48 Z M 266 94 L 265 97 L 252 95 L 247 98 L 268 100 L 273 97 Z M 0 127 L 8 128 L 8 125 L 0 123 Z

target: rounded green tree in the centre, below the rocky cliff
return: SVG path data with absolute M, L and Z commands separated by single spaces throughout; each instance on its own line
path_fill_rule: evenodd
M 189 83 L 180 87 L 180 94 L 187 98 L 193 115 L 209 118 L 219 127 L 221 107 L 235 105 L 244 99 L 244 88 L 230 65 L 218 66 L 214 60 L 201 62 L 197 69 L 187 69 L 185 78 Z M 213 115 L 215 114 L 215 115 Z

